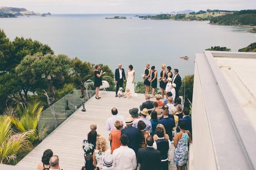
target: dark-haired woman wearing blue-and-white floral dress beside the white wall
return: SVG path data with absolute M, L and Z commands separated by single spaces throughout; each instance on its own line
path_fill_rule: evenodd
M 177 170 L 185 170 L 189 158 L 188 143 L 191 143 L 191 133 L 185 130 L 185 124 L 185 121 L 179 121 L 180 132 L 176 133 L 174 137 L 174 163 Z

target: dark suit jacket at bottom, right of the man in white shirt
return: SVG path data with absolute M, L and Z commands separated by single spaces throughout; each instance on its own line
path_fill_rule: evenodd
M 161 153 L 154 148 L 140 148 L 137 154 L 140 170 L 161 170 Z

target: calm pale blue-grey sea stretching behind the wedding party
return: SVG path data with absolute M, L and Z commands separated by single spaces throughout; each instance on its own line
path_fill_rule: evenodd
M 105 19 L 126 16 L 127 19 Z M 122 63 L 134 66 L 141 80 L 146 62 L 178 68 L 181 76 L 193 74 L 195 53 L 211 46 L 232 51 L 256 42 L 246 27 L 213 26 L 205 22 L 144 20 L 135 14 L 62 14 L 50 17 L 0 18 L 0 28 L 10 39 L 16 36 L 49 44 L 58 53 L 83 61 L 104 63 L 114 71 Z M 189 61 L 180 57 L 188 56 Z

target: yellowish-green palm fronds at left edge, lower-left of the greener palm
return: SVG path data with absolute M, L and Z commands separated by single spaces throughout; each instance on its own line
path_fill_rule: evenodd
M 31 149 L 32 144 L 27 140 L 32 131 L 14 133 L 9 116 L 0 116 L 0 163 L 10 163 L 17 159 L 18 153 Z

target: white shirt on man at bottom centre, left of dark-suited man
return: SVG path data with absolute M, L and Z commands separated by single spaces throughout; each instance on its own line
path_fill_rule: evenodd
M 136 155 L 133 149 L 120 146 L 113 154 L 114 167 L 120 170 L 134 170 L 137 166 Z

